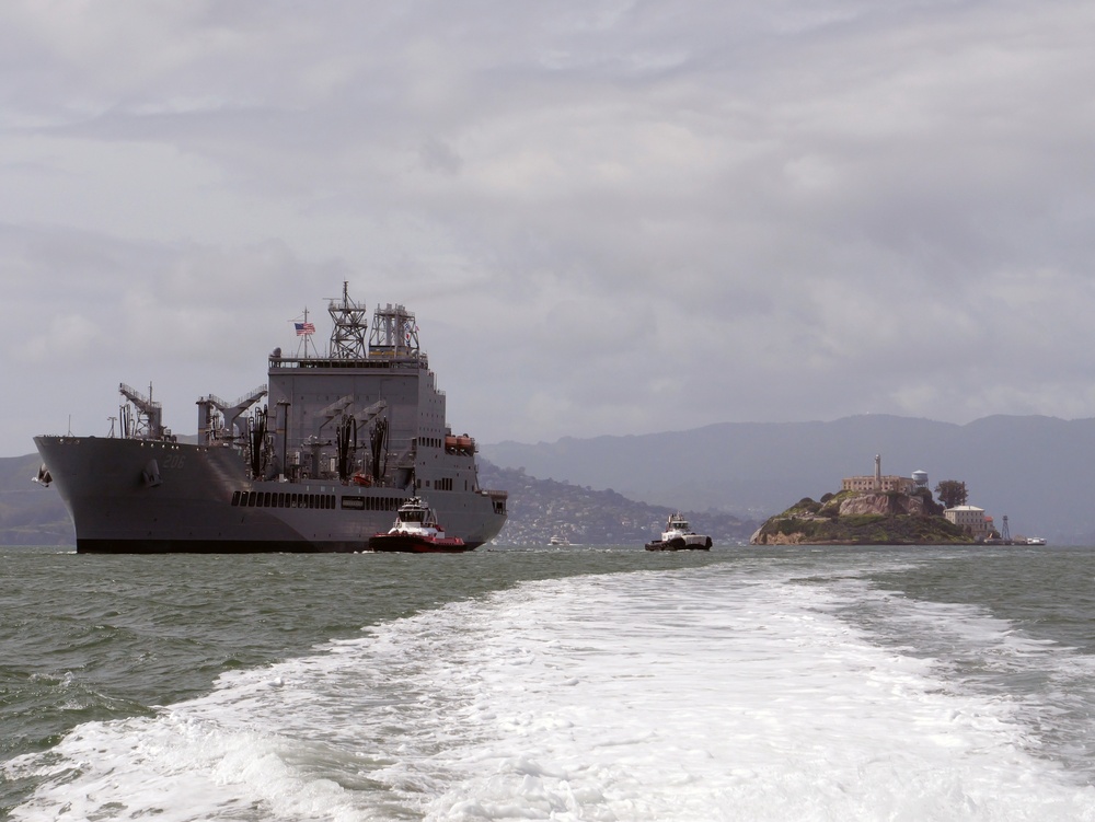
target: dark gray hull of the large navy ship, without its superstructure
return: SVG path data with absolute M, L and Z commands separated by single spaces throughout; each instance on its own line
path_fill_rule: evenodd
M 330 479 L 252 481 L 240 454 L 223 447 L 95 437 L 37 437 L 35 444 L 80 553 L 362 552 L 411 496 Z M 430 503 L 470 547 L 506 521 L 477 489 L 438 491 Z

